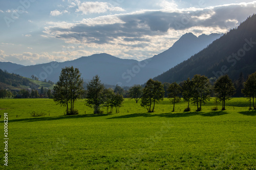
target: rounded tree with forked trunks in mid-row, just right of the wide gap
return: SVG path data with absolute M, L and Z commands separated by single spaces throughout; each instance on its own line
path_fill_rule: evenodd
M 141 98 L 141 106 L 145 107 L 148 112 L 154 112 L 155 103 L 162 101 L 164 97 L 164 88 L 161 82 L 152 79 L 146 82 Z M 153 104 L 153 108 L 152 108 Z

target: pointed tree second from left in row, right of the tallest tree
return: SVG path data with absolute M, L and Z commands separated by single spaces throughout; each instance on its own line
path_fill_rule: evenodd
M 100 83 L 98 75 L 93 77 L 93 79 L 87 85 L 86 105 L 94 108 L 94 114 L 102 113 L 100 111 L 100 105 L 104 103 L 102 100 L 103 89 L 104 85 Z

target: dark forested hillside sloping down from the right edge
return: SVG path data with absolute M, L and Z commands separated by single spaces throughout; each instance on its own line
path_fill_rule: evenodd
M 230 30 L 188 60 L 157 76 L 161 82 L 181 82 L 196 74 L 218 78 L 227 74 L 232 80 L 241 72 L 256 71 L 256 15 L 248 17 L 238 28 Z M 186 50 L 184 48 L 184 50 Z

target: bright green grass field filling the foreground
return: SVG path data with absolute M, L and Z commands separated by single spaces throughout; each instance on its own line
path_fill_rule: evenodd
M 181 102 L 171 112 L 164 99 L 146 113 L 125 99 L 120 113 L 94 115 L 77 101 L 79 115 L 65 116 L 51 99 L 1 99 L 1 140 L 8 113 L 9 141 L 8 167 L 0 145 L 0 169 L 256 169 L 256 111 L 243 98 L 226 104 L 226 111 L 211 111 L 211 100 L 201 112 L 193 105 L 183 112 Z

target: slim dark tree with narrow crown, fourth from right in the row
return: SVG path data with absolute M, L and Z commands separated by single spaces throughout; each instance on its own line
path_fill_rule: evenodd
M 189 102 L 193 96 L 193 90 L 194 90 L 194 83 L 193 83 L 193 81 L 190 81 L 188 78 L 186 81 L 183 82 L 182 96 L 183 96 L 183 99 L 188 102 L 187 110 L 189 110 L 189 111 L 190 111 Z

